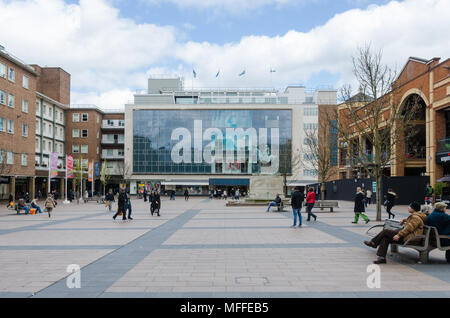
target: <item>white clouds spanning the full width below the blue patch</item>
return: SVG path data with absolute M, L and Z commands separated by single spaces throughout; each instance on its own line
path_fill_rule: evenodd
M 241 2 L 256 6 L 276 0 Z M 352 82 L 351 56 L 366 42 L 381 48 L 385 62 L 398 68 L 409 56 L 448 58 L 448 12 L 448 0 L 392 1 L 338 14 L 309 32 L 249 35 L 218 45 L 183 42 L 182 32 L 170 26 L 137 24 L 121 17 L 108 0 L 73 5 L 63 0 L 0 0 L 0 44 L 27 63 L 60 66 L 71 73 L 73 103 L 117 108 L 132 99 L 133 90 L 146 87 L 149 75 L 180 74 L 189 89 L 192 68 L 198 74 L 195 87 L 267 87 L 270 67 L 277 71 L 272 74 L 277 87 L 307 82 L 321 71 L 339 74 L 340 85 Z M 178 65 L 167 66 L 174 63 Z M 246 75 L 238 77 L 243 69 Z

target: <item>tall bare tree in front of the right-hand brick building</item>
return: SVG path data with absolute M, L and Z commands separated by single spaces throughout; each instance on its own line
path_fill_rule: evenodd
M 396 72 L 382 63 L 381 51 L 365 45 L 352 61 L 359 93 L 353 95 L 350 85 L 340 90 L 344 103 L 335 114 L 339 148 L 347 166 L 376 180 L 376 215 L 381 221 L 382 176 L 394 160 L 405 159 L 402 146 L 417 134 L 421 105 L 411 100 L 400 107 L 401 86 L 395 85 Z

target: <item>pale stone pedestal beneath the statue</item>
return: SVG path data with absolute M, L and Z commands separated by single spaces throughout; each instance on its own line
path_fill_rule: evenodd
M 250 200 L 273 200 L 279 194 L 283 197 L 282 176 L 252 176 L 250 178 Z

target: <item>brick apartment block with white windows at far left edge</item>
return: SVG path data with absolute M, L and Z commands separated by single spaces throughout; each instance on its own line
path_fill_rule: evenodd
M 38 73 L 0 47 L 0 198 L 33 191 Z

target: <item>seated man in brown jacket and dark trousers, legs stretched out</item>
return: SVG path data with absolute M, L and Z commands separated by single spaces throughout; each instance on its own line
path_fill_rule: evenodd
M 378 247 L 378 258 L 374 261 L 374 264 L 386 264 L 386 254 L 390 243 L 403 244 L 416 235 L 422 235 L 423 225 L 427 215 L 420 212 L 420 204 L 417 202 L 413 202 L 409 205 L 408 212 L 411 213 L 411 215 L 400 222 L 400 225 L 405 225 L 403 229 L 385 229 L 372 240 L 364 241 L 364 244 L 367 246 L 373 248 Z

